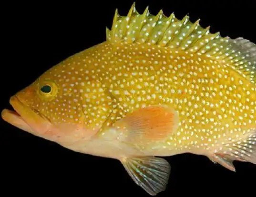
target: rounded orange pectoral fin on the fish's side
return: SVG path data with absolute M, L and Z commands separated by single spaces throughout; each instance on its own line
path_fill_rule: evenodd
M 166 106 L 141 108 L 128 114 L 114 125 L 125 129 L 127 137 L 137 140 L 163 140 L 176 131 L 178 113 Z

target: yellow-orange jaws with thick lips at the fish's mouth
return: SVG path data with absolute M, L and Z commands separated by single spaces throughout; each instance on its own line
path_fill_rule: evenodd
M 32 134 L 43 134 L 51 127 L 51 123 L 38 112 L 26 106 L 18 96 L 10 98 L 10 105 L 15 111 L 3 109 L 1 117 L 9 124 Z

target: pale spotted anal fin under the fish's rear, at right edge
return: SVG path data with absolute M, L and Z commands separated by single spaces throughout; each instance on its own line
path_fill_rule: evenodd
M 256 164 L 256 129 L 253 129 L 245 139 L 231 142 L 209 157 L 213 162 L 236 171 L 233 161 L 243 161 Z

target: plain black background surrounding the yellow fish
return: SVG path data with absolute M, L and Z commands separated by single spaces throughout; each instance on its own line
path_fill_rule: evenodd
M 133 0 L 36 1 L 1 4 L 0 110 L 9 98 L 61 60 L 105 40 L 115 9 L 126 15 Z M 163 9 L 179 19 L 201 19 L 222 36 L 256 43 L 253 1 L 137 0 L 142 13 Z M 192 154 L 166 158 L 169 184 L 159 197 L 184 195 L 255 196 L 256 166 L 234 162 L 236 173 Z M 149 196 L 128 176 L 118 160 L 84 155 L 35 137 L 0 119 L 1 196 Z

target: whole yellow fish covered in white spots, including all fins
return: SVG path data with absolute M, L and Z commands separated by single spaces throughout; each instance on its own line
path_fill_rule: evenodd
M 166 190 L 164 157 L 190 153 L 236 171 L 256 164 L 256 44 L 163 10 L 116 9 L 106 39 L 10 97 L 9 124 L 120 161 L 148 195 Z

